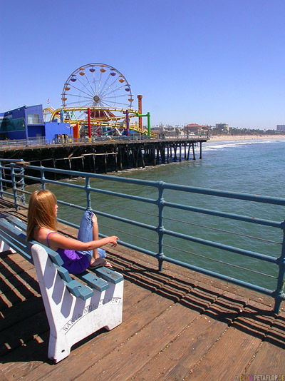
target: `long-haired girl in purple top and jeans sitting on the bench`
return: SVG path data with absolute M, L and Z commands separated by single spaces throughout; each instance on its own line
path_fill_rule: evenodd
M 99 249 L 98 253 L 98 248 L 107 243 L 116 246 L 119 238 L 113 235 L 99 240 L 97 218 L 90 211 L 83 215 L 77 240 L 68 238 L 57 232 L 57 213 L 58 205 L 53 193 L 34 191 L 28 204 L 27 240 L 37 240 L 56 251 L 61 255 L 63 267 L 71 274 L 83 273 L 86 268 L 111 268 L 109 262 L 100 258 L 105 256 L 105 250 Z

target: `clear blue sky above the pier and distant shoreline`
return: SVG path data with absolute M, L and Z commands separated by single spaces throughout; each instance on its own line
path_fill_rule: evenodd
M 58 108 L 68 76 L 102 63 L 142 94 L 152 125 L 285 123 L 284 0 L 2 0 L 0 11 L 0 112 Z

